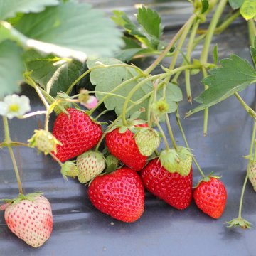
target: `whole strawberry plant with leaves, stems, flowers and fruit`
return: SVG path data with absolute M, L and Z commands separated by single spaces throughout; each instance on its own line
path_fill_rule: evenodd
M 179 114 L 183 98 L 193 104 L 187 118 L 204 111 L 205 136 L 210 107 L 228 97 L 235 96 L 250 114 L 253 132 L 247 173 L 238 218 L 229 222 L 230 227 L 250 228 L 242 218 L 242 200 L 248 179 L 255 188 L 256 112 L 240 92 L 256 82 L 256 70 L 235 54 L 218 60 L 218 46 L 212 53 L 210 43 L 242 16 L 256 65 L 256 4 L 250 0 L 190 2 L 191 16 L 166 42 L 161 17 L 147 6 L 138 8 L 133 21 L 123 11 L 115 10 L 107 18 L 89 4 L 71 0 L 21 0 L 18 5 L 15 0 L 0 0 L 0 114 L 4 125 L 0 146 L 9 151 L 18 183 L 18 196 L 3 199 L 1 210 L 5 210 L 11 232 L 28 245 L 43 245 L 54 223 L 50 203 L 41 193 L 24 195 L 15 146 L 36 148 L 53 158 L 63 178 L 77 177 L 88 185 L 92 205 L 117 220 L 132 223 L 142 217 L 144 188 L 170 207 L 184 210 L 194 199 L 203 213 L 221 218 L 227 200 L 225 184 L 212 173 L 204 174 L 188 145 Z M 196 59 L 193 51 L 198 45 L 202 50 Z M 137 58 L 148 57 L 148 67 L 134 64 Z M 166 57 L 171 59 L 169 65 L 164 65 Z M 193 99 L 191 81 L 198 73 L 204 88 Z M 182 75 L 184 82 L 179 79 Z M 32 99 L 16 95 L 22 93 L 23 83 L 36 92 L 45 110 L 31 112 Z M 43 127 L 35 127 L 28 143 L 11 139 L 9 119 L 42 114 Z M 183 142 L 176 142 L 172 116 Z M 100 122 L 102 118 L 107 122 Z M 202 176 L 194 190 L 192 164 Z

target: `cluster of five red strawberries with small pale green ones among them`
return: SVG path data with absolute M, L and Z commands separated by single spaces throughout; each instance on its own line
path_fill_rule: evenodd
M 146 188 L 179 210 L 187 208 L 194 198 L 204 213 L 220 218 L 227 198 L 225 186 L 218 178 L 210 176 L 193 191 L 192 157 L 188 150 L 183 147 L 166 149 L 153 157 L 160 143 L 159 134 L 135 120 L 129 127 L 117 126 L 107 131 L 105 144 L 110 156 L 125 166 L 102 173 L 106 170 L 105 156 L 90 150 L 102 138 L 100 124 L 93 122 L 85 112 L 73 108 L 67 111 L 70 116 L 59 114 L 53 127 L 53 135 L 61 142 L 55 156 L 63 162 L 78 156 L 78 180 L 90 182 L 88 196 L 102 213 L 127 223 L 134 222 L 144 211 Z M 65 171 L 65 174 L 76 175 L 74 171 L 70 175 Z

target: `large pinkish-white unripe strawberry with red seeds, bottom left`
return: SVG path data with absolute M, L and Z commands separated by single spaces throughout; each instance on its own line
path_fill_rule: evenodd
M 49 201 L 41 193 L 19 194 L 1 206 L 12 233 L 32 247 L 43 245 L 53 230 L 53 215 Z

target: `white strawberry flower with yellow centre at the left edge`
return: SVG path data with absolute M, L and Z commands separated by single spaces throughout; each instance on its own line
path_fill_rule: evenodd
M 29 99 L 25 95 L 7 95 L 0 102 L 0 115 L 12 119 L 30 111 Z

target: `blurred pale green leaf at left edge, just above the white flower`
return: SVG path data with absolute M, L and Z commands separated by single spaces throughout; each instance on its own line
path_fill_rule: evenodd
M 19 91 L 23 71 L 21 48 L 10 41 L 0 43 L 0 98 Z

